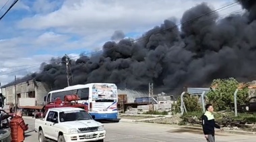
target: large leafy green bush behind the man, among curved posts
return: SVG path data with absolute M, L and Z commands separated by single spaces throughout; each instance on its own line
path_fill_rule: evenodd
M 213 80 L 210 92 L 206 94 L 208 102 L 214 105 L 216 111 L 230 109 L 234 106 L 234 92 L 237 88 L 236 100 L 239 105 L 248 99 L 248 84 L 239 84 L 234 78 Z

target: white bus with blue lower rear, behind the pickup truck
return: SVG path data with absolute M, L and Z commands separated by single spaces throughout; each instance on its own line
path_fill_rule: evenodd
M 77 94 L 77 102 L 88 105 L 89 113 L 95 120 L 119 120 L 117 118 L 117 86 L 110 83 L 90 83 L 68 86 L 53 90 L 44 97 L 46 103 L 56 98 L 64 100 L 66 94 Z

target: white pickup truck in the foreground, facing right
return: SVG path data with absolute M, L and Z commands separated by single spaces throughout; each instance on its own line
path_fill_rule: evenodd
M 84 109 L 74 107 L 49 109 L 44 118 L 35 120 L 34 127 L 40 142 L 103 142 L 106 137 L 102 123 L 94 121 Z

